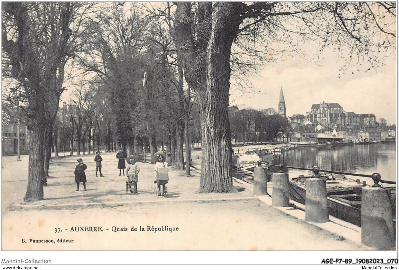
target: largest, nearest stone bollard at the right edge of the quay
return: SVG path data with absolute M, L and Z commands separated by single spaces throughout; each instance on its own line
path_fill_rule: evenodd
M 381 175 L 373 173 L 374 185 L 361 190 L 361 242 L 378 249 L 395 246 L 391 192 L 378 184 Z

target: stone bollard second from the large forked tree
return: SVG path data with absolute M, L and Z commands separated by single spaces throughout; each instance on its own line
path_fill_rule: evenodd
M 282 164 L 279 164 L 279 172 L 273 173 L 272 205 L 277 207 L 290 206 L 288 173 L 283 173 L 282 168 Z

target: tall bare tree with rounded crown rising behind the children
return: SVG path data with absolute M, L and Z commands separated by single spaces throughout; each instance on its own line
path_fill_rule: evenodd
M 134 151 L 131 114 L 140 87 L 148 20 L 134 6 L 129 15 L 122 3 L 112 3 L 111 13 L 101 13 L 101 22 L 88 35 L 91 42 L 78 55 L 83 73 L 95 73 L 97 81 L 107 84 L 115 118 L 117 141 L 127 153 Z

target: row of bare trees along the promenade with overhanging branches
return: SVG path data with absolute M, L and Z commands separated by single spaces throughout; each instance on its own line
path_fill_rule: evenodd
M 378 67 L 395 45 L 395 2 L 126 5 L 3 3 L 2 75 L 10 80 L 6 98 L 26 104 L 31 134 L 25 201 L 43 199 L 51 134 L 66 82 L 93 96 L 93 104 L 83 104 L 83 97 L 70 104 L 71 133 L 77 140 L 85 133 L 84 115 L 94 114 L 107 126 L 107 145 L 109 130 L 129 154 L 146 142 L 156 151 L 162 137 L 178 169 L 184 168 L 182 146 L 190 145 L 184 130 L 191 112 L 198 111 L 199 192 L 235 192 L 228 113 L 232 74 L 243 77 L 254 64 L 302 55 L 298 45 L 308 41 L 318 45 L 318 53 L 325 47 L 340 51 L 348 60 L 344 70 L 363 59 L 366 68 Z

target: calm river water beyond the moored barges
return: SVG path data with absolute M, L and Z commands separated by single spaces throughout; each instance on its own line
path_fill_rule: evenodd
M 271 158 L 270 156 L 267 160 L 270 161 Z M 273 164 L 282 163 L 285 166 L 301 168 L 318 166 L 320 169 L 369 175 L 378 172 L 381 179 L 396 181 L 396 144 L 302 147 L 275 154 L 273 158 Z M 312 173 L 298 169 L 288 169 L 287 172 L 290 178 Z M 347 177 L 373 184 L 373 180 L 368 177 Z

